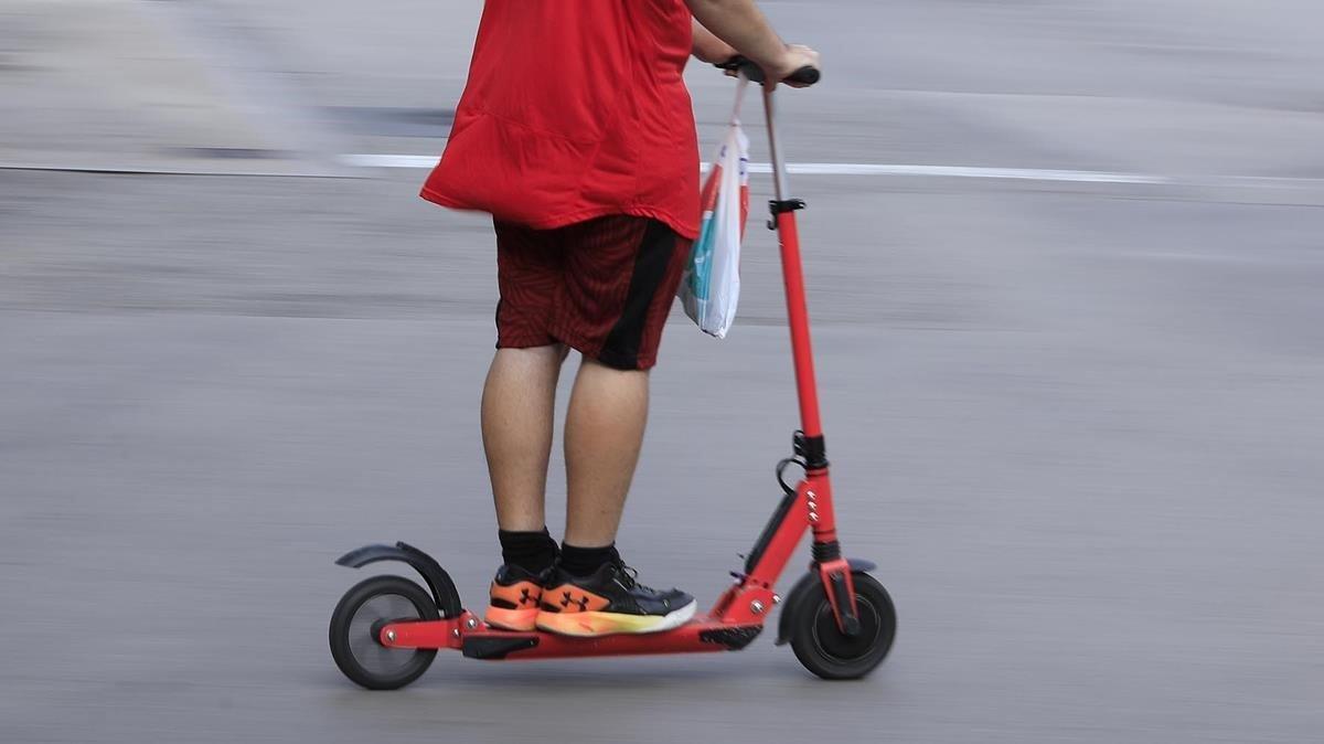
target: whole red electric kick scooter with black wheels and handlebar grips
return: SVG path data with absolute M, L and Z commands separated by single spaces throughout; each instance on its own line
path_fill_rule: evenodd
M 763 79 L 761 70 L 740 60 L 719 66 L 739 69 L 755 82 Z M 805 68 L 792 79 L 812 85 L 818 81 L 818 70 Z M 369 690 L 404 687 L 428 670 L 438 649 L 489 661 L 735 651 L 763 631 L 768 614 L 779 604 L 782 609 L 777 645 L 789 642 L 796 658 L 818 676 L 861 678 L 887 657 L 896 634 L 892 600 L 867 573 L 875 565 L 843 559 L 837 540 L 796 230 L 796 210 L 805 203 L 789 196 L 773 91 L 765 87 L 763 99 L 776 180 L 768 226 L 777 230 L 781 244 L 802 428 L 794 434 L 793 457 L 777 465 L 777 481 L 785 495 L 749 551 L 743 571 L 732 572 L 733 585 L 707 614 L 662 633 L 575 638 L 538 630 L 510 631 L 489 628 L 461 606 L 450 576 L 428 553 L 405 543 L 367 545 L 336 563 L 360 568 L 383 560 L 402 561 L 422 576 L 428 590 L 399 576 L 375 576 L 346 592 L 331 616 L 330 629 L 331 655 L 346 676 Z M 790 466 L 804 470 L 796 485 L 785 479 Z M 782 598 L 776 593 L 777 579 L 805 532 L 813 534 L 813 563 Z

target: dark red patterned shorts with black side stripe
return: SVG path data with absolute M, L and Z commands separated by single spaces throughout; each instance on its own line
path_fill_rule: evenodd
M 628 214 L 552 230 L 495 225 L 496 348 L 564 343 L 617 369 L 657 364 L 688 240 Z

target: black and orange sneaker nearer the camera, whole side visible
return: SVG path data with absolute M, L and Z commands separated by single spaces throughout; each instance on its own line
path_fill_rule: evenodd
M 658 633 L 694 617 L 694 597 L 678 589 L 650 589 L 622 563 L 609 563 L 591 576 L 557 569 L 545 584 L 538 628 L 563 635 Z

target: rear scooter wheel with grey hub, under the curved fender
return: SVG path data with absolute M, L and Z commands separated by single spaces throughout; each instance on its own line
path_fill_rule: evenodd
M 441 620 L 428 592 L 408 579 L 373 576 L 355 584 L 331 613 L 331 658 L 351 680 L 368 690 L 397 690 L 418 679 L 437 657 L 436 649 L 388 649 L 377 635 L 383 625 Z

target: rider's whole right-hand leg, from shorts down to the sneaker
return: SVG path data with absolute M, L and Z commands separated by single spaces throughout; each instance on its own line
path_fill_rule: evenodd
M 565 541 L 538 628 L 653 633 L 694 616 L 694 597 L 638 584 L 616 552 L 649 408 L 649 373 L 688 254 L 665 224 L 608 217 L 573 226 L 551 332 L 584 355 L 565 418 Z

